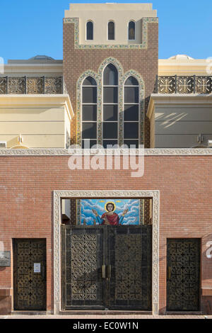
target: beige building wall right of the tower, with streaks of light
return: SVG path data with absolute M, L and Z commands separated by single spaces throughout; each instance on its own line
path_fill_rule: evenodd
M 212 140 L 212 95 L 153 94 L 148 118 L 152 148 L 207 146 Z

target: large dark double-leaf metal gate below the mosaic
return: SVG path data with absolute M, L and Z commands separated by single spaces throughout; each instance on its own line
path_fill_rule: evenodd
M 151 310 L 151 225 L 62 225 L 61 235 L 64 310 Z

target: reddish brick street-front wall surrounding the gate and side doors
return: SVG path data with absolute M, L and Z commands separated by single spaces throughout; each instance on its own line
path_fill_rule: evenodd
M 160 313 L 166 306 L 166 239 L 202 239 L 201 287 L 212 287 L 212 156 L 148 156 L 145 174 L 131 171 L 70 171 L 69 157 L 0 157 L 0 241 L 47 239 L 47 310 L 53 308 L 54 190 L 160 190 Z M 0 288 L 11 288 L 12 269 L 0 268 Z M 212 297 L 201 298 L 212 313 Z

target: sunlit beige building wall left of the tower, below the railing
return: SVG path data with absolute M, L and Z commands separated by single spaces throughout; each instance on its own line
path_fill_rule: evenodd
M 1 95 L 0 141 L 6 147 L 66 148 L 73 110 L 68 95 Z

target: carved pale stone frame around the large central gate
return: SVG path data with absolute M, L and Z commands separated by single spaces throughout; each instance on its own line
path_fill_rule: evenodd
M 61 199 L 62 198 L 152 198 L 153 199 L 153 269 L 152 311 L 159 310 L 159 217 L 160 191 L 54 191 L 54 314 L 61 310 Z

